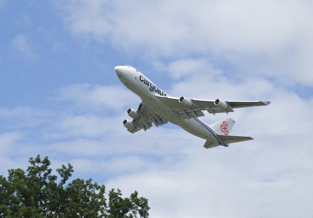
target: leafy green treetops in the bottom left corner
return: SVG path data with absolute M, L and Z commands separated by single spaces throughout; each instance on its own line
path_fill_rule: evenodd
M 69 178 L 74 172 L 68 163 L 56 169 L 58 177 L 51 174 L 48 157 L 37 155 L 29 158 L 27 174 L 22 169 L 9 169 L 8 178 L 0 175 L 0 217 L 148 217 L 148 199 L 138 197 L 135 191 L 122 198 L 121 190 L 109 191 L 109 203 L 105 198 L 105 186 L 92 179 Z M 68 183 L 68 184 L 67 184 Z

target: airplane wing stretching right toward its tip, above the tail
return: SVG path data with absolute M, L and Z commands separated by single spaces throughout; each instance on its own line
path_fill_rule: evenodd
M 269 105 L 270 101 L 222 101 L 216 100 L 203 100 L 203 99 L 188 99 L 185 97 L 170 97 L 170 96 L 156 96 L 164 104 L 177 112 L 179 116 L 184 119 L 192 117 L 204 116 L 202 111 L 208 111 L 215 115 L 215 113 L 228 113 L 233 112 L 233 108 L 239 107 L 252 107 Z

